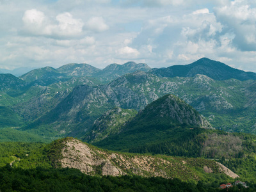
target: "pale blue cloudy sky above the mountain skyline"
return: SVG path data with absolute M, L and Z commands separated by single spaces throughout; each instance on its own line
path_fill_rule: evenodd
M 0 0 L 0 68 L 203 57 L 256 72 L 256 0 Z

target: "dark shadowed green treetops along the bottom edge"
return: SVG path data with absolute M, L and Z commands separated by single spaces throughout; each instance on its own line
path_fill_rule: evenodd
M 204 182 L 198 184 L 162 177 L 93 177 L 76 169 L 22 170 L 6 165 L 0 168 L 0 189 L 6 191 L 221 191 Z M 234 188 L 228 191 L 253 191 L 252 188 Z M 222 190 L 227 191 L 227 190 Z

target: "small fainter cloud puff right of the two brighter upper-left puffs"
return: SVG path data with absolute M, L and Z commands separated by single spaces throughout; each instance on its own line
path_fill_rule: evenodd
M 95 31 L 95 32 L 102 32 L 109 29 L 109 26 L 105 24 L 104 19 L 102 17 L 92 17 L 86 22 L 86 29 Z

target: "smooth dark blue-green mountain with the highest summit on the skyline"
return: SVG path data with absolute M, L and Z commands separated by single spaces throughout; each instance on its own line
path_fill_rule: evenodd
M 227 79 L 238 79 L 240 81 L 256 80 L 256 74 L 253 72 L 244 72 L 219 61 L 209 60 L 208 58 L 202 58 L 189 65 L 153 68 L 150 73 L 159 77 L 193 77 L 197 74 L 202 74 L 218 81 Z

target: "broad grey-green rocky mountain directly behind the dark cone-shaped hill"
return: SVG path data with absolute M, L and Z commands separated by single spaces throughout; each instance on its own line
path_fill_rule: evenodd
M 76 86 L 47 116 L 29 125 L 29 129 L 44 125 L 47 127 L 44 129 L 51 127 L 58 134 L 63 132 L 64 135 L 82 137 L 97 118 L 115 106 L 138 111 L 159 97 L 172 93 L 200 111 L 213 127 L 229 132 L 242 129 L 255 132 L 254 86 L 255 81 L 252 80 L 216 81 L 204 75 L 161 78 L 134 72 L 108 84 Z

